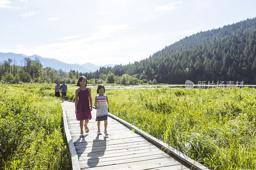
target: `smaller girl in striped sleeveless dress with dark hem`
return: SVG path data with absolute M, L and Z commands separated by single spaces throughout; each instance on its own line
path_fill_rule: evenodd
M 101 135 L 100 133 L 100 121 L 104 121 L 104 133 L 107 136 L 107 126 L 108 126 L 108 96 L 106 96 L 105 93 L 105 86 L 99 85 L 97 88 L 97 95 L 95 97 L 94 106 L 97 109 L 96 111 L 96 121 L 98 121 L 98 131 L 97 134 Z

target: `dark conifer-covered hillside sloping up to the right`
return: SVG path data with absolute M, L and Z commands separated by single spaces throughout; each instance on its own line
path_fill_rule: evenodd
M 244 81 L 256 84 L 256 18 L 193 34 L 140 62 L 100 68 L 84 74 L 100 78 L 109 71 L 140 80 L 184 84 L 197 81 Z

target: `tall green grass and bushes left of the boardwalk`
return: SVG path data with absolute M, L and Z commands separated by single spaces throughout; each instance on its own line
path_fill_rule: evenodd
M 60 100 L 45 85 L 0 86 L 0 167 L 70 169 Z M 40 91 L 40 92 L 39 92 Z

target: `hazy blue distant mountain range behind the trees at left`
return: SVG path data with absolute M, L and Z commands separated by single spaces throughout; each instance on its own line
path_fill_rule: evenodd
M 31 55 L 27 56 L 24 54 L 15 54 L 15 53 L 0 53 L 0 62 L 3 62 L 4 60 L 8 60 L 8 58 L 11 58 L 12 61 L 15 60 L 17 65 L 22 65 L 22 60 L 28 57 L 31 60 L 35 60 L 36 58 L 40 60 L 40 62 L 43 64 L 43 67 L 51 67 L 56 70 L 62 69 L 64 71 L 69 70 L 77 70 L 78 72 L 94 72 L 97 69 L 100 69 L 100 67 L 114 67 L 112 64 L 98 66 L 92 63 L 85 63 L 85 64 L 68 64 L 61 62 L 59 60 L 53 59 L 53 58 L 43 58 L 39 55 Z

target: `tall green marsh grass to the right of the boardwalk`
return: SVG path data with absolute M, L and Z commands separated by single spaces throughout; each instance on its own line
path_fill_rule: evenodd
M 256 169 L 256 90 L 107 90 L 109 112 L 210 169 Z

